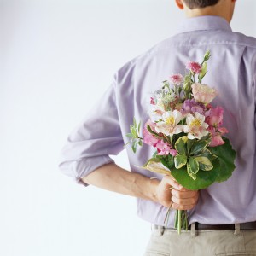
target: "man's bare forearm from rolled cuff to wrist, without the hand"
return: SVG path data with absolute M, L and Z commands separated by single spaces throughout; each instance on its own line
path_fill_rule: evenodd
M 101 166 L 83 177 L 83 181 L 101 189 L 151 201 L 157 201 L 156 188 L 160 183 L 139 173 L 128 172 L 114 163 Z

